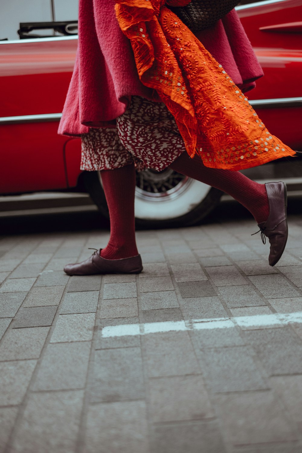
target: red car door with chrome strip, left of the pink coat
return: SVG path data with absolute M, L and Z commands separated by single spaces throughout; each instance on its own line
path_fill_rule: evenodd
M 77 37 L 0 41 L 0 193 L 67 187 L 57 134 Z

